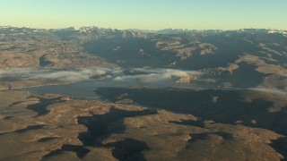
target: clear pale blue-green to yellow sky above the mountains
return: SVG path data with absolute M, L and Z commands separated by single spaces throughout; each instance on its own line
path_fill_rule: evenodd
M 0 26 L 287 30 L 287 0 L 1 0 Z

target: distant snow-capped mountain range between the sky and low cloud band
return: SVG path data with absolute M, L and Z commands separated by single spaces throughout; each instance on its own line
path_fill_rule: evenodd
M 206 73 L 205 86 L 287 90 L 287 31 L 57 30 L 0 27 L 0 68 L 170 68 Z M 187 79 L 188 80 L 188 79 Z M 213 83 L 211 83 L 213 82 Z

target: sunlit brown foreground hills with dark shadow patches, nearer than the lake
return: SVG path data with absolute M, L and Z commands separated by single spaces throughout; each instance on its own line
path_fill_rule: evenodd
M 244 122 L 222 123 L 164 109 L 20 91 L 1 91 L 0 99 L 0 140 L 4 145 L 0 156 L 4 160 L 286 157 L 284 132 L 257 128 L 256 122 L 261 120 L 250 127 Z

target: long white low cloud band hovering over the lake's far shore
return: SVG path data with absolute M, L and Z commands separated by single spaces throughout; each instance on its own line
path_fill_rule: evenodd
M 127 72 L 126 72 L 127 71 Z M 93 78 L 111 78 L 116 81 L 135 80 L 144 83 L 161 80 L 176 80 L 182 77 L 189 77 L 194 74 L 202 74 L 194 71 L 181 71 L 173 69 L 153 69 L 150 67 L 134 69 L 105 69 L 105 68 L 81 68 L 73 70 L 51 70 L 35 68 L 13 68 L 0 70 L 1 78 L 15 79 L 53 79 L 60 81 L 82 81 Z

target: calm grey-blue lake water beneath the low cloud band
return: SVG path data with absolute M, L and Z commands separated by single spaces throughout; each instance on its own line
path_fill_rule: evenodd
M 104 80 L 81 81 L 72 84 L 39 86 L 23 90 L 37 94 L 61 94 L 74 98 L 99 100 L 100 96 L 96 94 L 95 90 L 102 87 L 191 88 L 189 84 L 178 83 L 174 80 L 161 80 L 147 83 L 138 80 L 117 81 L 109 78 Z

